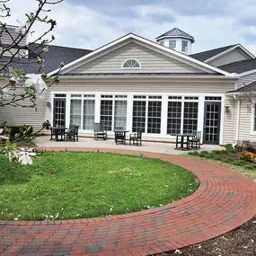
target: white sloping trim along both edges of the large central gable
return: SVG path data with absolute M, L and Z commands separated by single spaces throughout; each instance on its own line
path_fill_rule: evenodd
M 85 63 L 92 61 L 93 59 L 95 59 L 97 57 L 101 57 L 102 55 L 105 55 L 114 49 L 118 49 L 119 47 L 122 47 L 131 41 L 136 42 L 137 44 L 141 44 L 141 45 L 145 46 L 146 48 L 150 48 L 154 51 L 157 51 L 157 52 L 159 52 L 165 56 L 168 56 L 172 59 L 181 61 L 182 63 L 185 63 L 187 65 L 199 68 L 199 70 L 202 70 L 202 71 L 205 71 L 208 73 L 219 73 L 221 75 L 232 76 L 231 74 L 228 74 L 225 71 L 223 71 L 217 67 L 209 66 L 205 63 L 198 61 L 197 59 L 188 57 L 180 52 L 177 52 L 172 49 L 168 49 L 154 41 L 146 40 L 146 39 L 139 37 L 132 33 L 129 33 L 128 35 L 121 37 L 118 40 L 114 40 L 114 41 L 110 42 L 109 44 L 103 46 L 102 48 L 96 49 L 92 53 L 89 53 L 88 55 L 86 55 L 84 57 L 80 57 L 80 58 L 76 59 L 75 61 L 71 62 L 70 64 L 67 64 L 66 66 L 64 66 L 62 68 L 61 73 L 66 74 L 66 73 L 70 72 L 71 70 L 74 70 L 78 66 L 82 66 Z M 55 70 L 55 71 L 51 72 L 49 75 L 54 75 L 57 72 L 58 72 L 58 70 Z

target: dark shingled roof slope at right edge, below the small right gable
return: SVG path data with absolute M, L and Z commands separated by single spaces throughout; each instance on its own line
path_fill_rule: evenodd
M 233 63 L 226 64 L 224 66 L 218 66 L 218 68 L 229 73 L 241 74 L 243 72 L 256 69 L 256 58 L 236 61 Z

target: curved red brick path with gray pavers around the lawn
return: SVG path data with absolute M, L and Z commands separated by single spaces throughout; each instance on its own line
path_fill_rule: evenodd
M 1 255 L 149 255 L 224 234 L 256 214 L 256 183 L 228 168 L 184 156 L 100 151 L 144 154 L 180 164 L 197 174 L 199 189 L 172 204 L 119 216 L 1 221 Z

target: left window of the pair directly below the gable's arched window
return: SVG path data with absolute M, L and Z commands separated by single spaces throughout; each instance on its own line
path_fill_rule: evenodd
M 146 128 L 146 101 L 133 102 L 132 115 L 132 131 L 137 132 L 138 129 L 145 132 Z

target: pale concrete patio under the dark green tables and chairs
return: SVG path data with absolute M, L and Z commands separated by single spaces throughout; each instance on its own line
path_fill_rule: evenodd
M 114 139 L 107 140 L 94 140 L 91 137 L 79 137 L 78 142 L 70 141 L 49 141 L 49 136 L 38 137 L 35 141 L 39 147 L 47 148 L 68 148 L 69 150 L 83 150 L 84 147 L 92 149 L 108 148 L 108 149 L 123 149 L 123 150 L 136 150 L 141 152 L 154 152 L 160 154 L 187 154 L 190 151 L 175 150 L 174 143 L 160 143 L 160 142 L 148 142 L 143 141 L 142 146 L 129 146 L 127 145 L 116 145 Z M 202 145 L 198 151 L 210 151 L 224 149 L 223 146 L 216 145 Z

